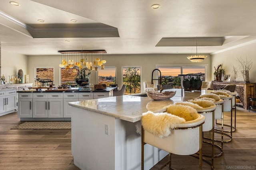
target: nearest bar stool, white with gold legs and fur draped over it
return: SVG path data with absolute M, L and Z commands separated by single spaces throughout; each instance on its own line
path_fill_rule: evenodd
M 141 169 L 144 170 L 144 145 L 150 144 L 166 152 L 169 152 L 169 160 L 166 162 L 160 169 L 164 168 L 166 165 L 169 164 L 169 169 L 171 170 L 172 160 L 171 155 L 191 155 L 199 151 L 199 169 L 202 170 L 202 125 L 204 124 L 205 117 L 196 113 L 196 110 L 192 107 L 188 106 L 177 106 L 177 105 L 170 105 L 168 106 L 168 111 L 171 111 L 172 114 L 178 115 L 181 110 L 189 110 L 190 116 L 193 117 L 194 120 L 185 121 L 183 118 L 182 122 L 176 123 L 175 126 L 170 127 L 167 126 L 167 129 L 170 130 L 170 135 L 166 137 L 159 137 L 154 135 L 152 132 L 152 126 L 150 123 L 145 123 L 148 120 L 147 116 L 151 117 L 152 124 L 156 125 L 159 123 L 160 126 L 163 125 L 163 121 L 160 119 L 154 119 L 154 116 L 161 117 L 164 116 L 170 120 L 173 117 L 177 117 L 175 115 L 169 113 L 152 113 L 147 112 L 142 114 L 142 160 L 141 160 Z M 178 108 L 178 109 L 177 109 Z M 153 117 L 152 117 L 153 115 Z M 159 121 L 160 120 L 160 121 Z M 148 127 L 150 127 L 148 129 Z M 157 130 L 154 128 L 153 130 Z

